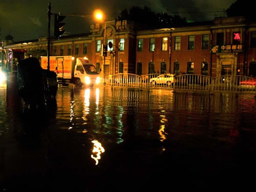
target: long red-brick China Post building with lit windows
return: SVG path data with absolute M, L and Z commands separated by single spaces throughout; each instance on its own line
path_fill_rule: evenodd
M 104 31 L 105 29 L 105 31 Z M 105 41 L 105 42 L 104 42 Z M 102 44 L 109 45 L 102 56 Z M 5 45 L 7 49 L 47 49 L 47 38 Z M 220 17 L 179 28 L 136 31 L 126 20 L 91 26 L 88 34 L 53 39 L 50 55 L 88 57 L 109 78 L 117 73 L 256 76 L 256 23 Z

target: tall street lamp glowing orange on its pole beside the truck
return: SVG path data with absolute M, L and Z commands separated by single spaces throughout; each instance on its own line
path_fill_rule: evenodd
M 105 82 L 105 56 L 106 56 L 106 54 L 105 53 L 106 53 L 107 50 L 104 50 L 104 49 L 106 49 L 106 47 L 107 47 L 106 46 L 106 20 L 104 18 L 103 12 L 100 9 L 95 10 L 93 15 L 94 15 L 94 18 L 96 20 L 98 20 L 99 22 L 102 22 L 104 20 L 104 39 L 103 39 L 102 53 L 103 53 L 103 56 L 104 56 L 104 64 L 103 64 L 103 79 L 104 79 L 104 82 L 103 82 L 103 84 L 105 85 L 106 84 L 106 82 Z

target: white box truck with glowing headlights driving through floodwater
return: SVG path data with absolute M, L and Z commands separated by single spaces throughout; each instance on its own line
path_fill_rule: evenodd
M 47 69 L 48 57 L 41 57 L 41 68 Z M 93 87 L 100 83 L 100 75 L 93 63 L 87 57 L 50 56 L 50 71 L 57 74 L 58 81 L 62 84 L 74 83 L 75 86 Z

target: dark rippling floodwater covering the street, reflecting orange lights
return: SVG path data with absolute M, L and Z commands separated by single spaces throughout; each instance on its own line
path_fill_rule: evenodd
M 252 94 L 59 87 L 23 114 L 0 89 L 0 191 L 177 191 L 254 187 Z

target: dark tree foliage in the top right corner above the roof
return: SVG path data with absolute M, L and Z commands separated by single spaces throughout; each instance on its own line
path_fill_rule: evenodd
M 230 7 L 226 10 L 226 13 L 228 17 L 246 16 L 251 20 L 256 20 L 253 9 L 254 7 L 251 5 L 250 0 L 237 0 L 230 5 Z

